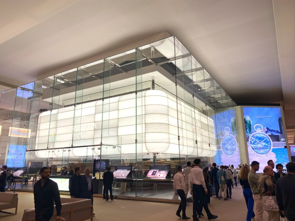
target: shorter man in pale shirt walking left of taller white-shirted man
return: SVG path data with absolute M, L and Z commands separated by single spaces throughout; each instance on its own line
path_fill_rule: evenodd
M 187 220 L 190 219 L 190 217 L 187 217 L 185 214 L 186 210 L 186 193 L 184 192 L 185 189 L 185 182 L 184 182 L 184 177 L 181 174 L 182 172 L 182 167 L 179 165 L 177 166 L 177 174 L 174 175 L 173 177 L 173 189 L 175 194 L 178 194 L 178 196 L 181 199 L 181 202 L 179 204 L 178 210 L 176 211 L 176 215 L 178 217 L 181 217 L 180 211 L 182 210 L 182 219 Z

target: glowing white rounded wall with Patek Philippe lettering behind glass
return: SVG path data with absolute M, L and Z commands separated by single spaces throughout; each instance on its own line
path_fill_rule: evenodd
M 137 133 L 143 153 L 213 156 L 216 145 L 211 118 L 163 91 L 141 94 L 137 99 L 135 94 L 122 95 L 41 113 L 36 149 L 90 145 L 50 153 L 50 157 L 86 156 L 92 155 L 91 145 L 102 142 L 120 147 L 94 148 L 94 154 L 134 154 Z M 48 157 L 48 151 L 36 155 Z

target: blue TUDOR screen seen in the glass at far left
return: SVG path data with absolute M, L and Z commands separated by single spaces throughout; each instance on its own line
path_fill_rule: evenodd
M 7 167 L 24 167 L 24 157 L 27 146 L 9 145 Z

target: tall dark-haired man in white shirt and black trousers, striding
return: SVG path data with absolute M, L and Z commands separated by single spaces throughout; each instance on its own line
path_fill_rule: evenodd
M 208 194 L 206 187 L 203 170 L 200 168 L 201 160 L 195 159 L 194 164 L 196 167 L 191 169 L 190 179 L 189 179 L 189 189 L 194 199 L 193 205 L 193 221 L 197 221 L 198 214 L 201 214 L 201 209 L 204 207 L 208 220 L 216 219 L 218 216 L 213 215 L 206 201 L 205 195 Z

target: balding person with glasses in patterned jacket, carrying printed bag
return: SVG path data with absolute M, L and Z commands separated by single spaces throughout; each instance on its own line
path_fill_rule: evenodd
M 263 169 L 263 174 L 259 178 L 257 187 L 262 197 L 263 210 L 266 212 L 267 219 L 269 221 L 279 220 L 279 210 L 276 204 L 275 184 L 272 181 L 274 175 L 273 168 L 266 166 Z

